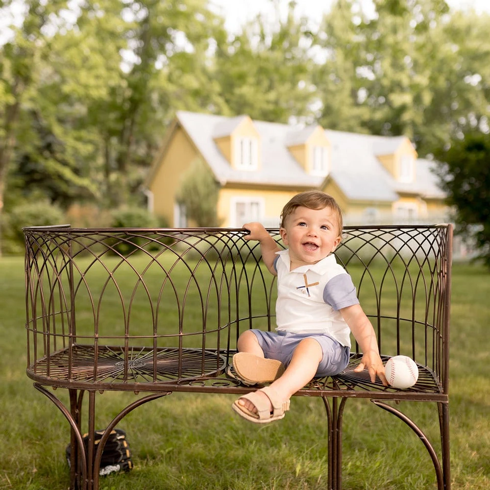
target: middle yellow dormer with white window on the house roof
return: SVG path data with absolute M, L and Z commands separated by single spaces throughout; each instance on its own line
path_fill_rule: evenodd
M 286 146 L 306 173 L 325 177 L 330 172 L 331 145 L 321 126 L 290 133 Z

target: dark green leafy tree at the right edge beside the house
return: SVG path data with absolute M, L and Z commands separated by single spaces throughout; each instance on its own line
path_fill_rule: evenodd
M 456 231 L 473 237 L 490 268 L 490 134 L 472 131 L 436 153 L 441 187 L 455 207 Z

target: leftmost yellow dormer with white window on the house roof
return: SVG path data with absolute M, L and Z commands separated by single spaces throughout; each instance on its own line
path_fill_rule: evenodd
M 227 118 L 218 124 L 213 140 L 235 170 L 259 170 L 260 135 L 248 116 Z

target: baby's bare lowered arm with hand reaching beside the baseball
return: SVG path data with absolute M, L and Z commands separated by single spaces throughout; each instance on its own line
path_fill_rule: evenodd
M 340 312 L 363 352 L 361 363 L 354 371 L 360 372 L 367 368 L 373 383 L 376 381 L 376 375 L 378 375 L 381 382 L 388 386 L 385 368 L 376 342 L 376 333 L 364 310 L 357 304 L 342 308 Z

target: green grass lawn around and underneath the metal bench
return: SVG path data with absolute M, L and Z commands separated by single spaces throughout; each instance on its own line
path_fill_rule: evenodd
M 69 425 L 25 375 L 24 260 L 0 259 L 0 489 L 69 486 Z M 451 474 L 453 490 L 490 488 L 490 273 L 453 268 L 451 319 Z M 64 390 L 55 393 L 67 401 Z M 103 428 L 135 395 L 97 396 Z M 119 424 L 135 468 L 101 479 L 101 490 L 324 489 L 327 424 L 319 398 L 296 397 L 281 422 L 258 427 L 231 410 L 230 395 L 173 393 L 136 409 Z M 399 407 L 439 448 L 434 404 Z M 84 420 L 86 423 L 86 420 Z M 348 400 L 343 426 L 343 487 L 434 489 L 430 458 L 401 421 L 367 400 Z

